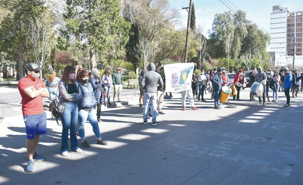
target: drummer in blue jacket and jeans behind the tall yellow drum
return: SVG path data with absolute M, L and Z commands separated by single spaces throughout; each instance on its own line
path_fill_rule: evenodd
M 221 109 L 220 105 L 219 105 L 219 96 L 220 96 L 220 91 L 222 88 L 222 68 L 218 67 L 217 69 L 217 73 L 215 74 L 215 76 L 211 79 L 211 82 L 213 84 L 213 91 L 215 93 L 215 109 Z

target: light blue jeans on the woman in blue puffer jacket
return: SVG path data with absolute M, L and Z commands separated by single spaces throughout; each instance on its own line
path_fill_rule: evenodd
M 85 132 L 84 132 L 84 125 L 86 120 L 88 120 L 92 127 L 93 127 L 93 132 L 95 133 L 96 139 L 101 139 L 101 134 L 100 134 L 100 129 L 99 129 L 99 125 L 98 125 L 98 121 L 97 121 L 97 116 L 96 116 L 96 111 L 94 108 L 92 108 L 92 110 L 90 111 L 85 111 L 83 109 L 81 109 L 79 111 L 79 115 L 78 115 L 78 133 L 80 135 L 80 138 L 82 140 L 85 140 Z

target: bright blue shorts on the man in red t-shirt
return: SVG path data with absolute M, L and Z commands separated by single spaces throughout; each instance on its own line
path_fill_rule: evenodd
M 35 135 L 46 134 L 46 113 L 23 116 L 26 127 L 26 138 L 34 139 Z

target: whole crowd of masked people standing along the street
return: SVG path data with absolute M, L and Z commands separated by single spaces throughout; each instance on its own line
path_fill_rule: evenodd
M 152 125 L 159 125 L 157 116 L 162 114 L 162 102 L 164 100 L 165 91 L 165 74 L 164 65 L 156 67 L 154 63 L 149 63 L 146 70 L 142 70 L 138 79 L 140 87 L 139 106 L 143 107 L 143 124 L 147 124 L 148 119 L 152 119 Z M 194 64 L 194 71 L 197 64 Z M 100 77 L 100 71 L 94 69 L 91 72 L 78 65 L 76 67 L 66 66 L 63 70 L 62 79 L 56 77 L 56 73 L 52 72 L 46 83 L 40 80 L 39 72 L 42 70 L 36 63 L 29 63 L 25 67 L 26 77 L 22 78 L 18 83 L 18 90 L 22 97 L 22 113 L 26 126 L 26 148 L 28 153 L 28 165 L 26 172 L 34 171 L 34 160 L 45 160 L 43 156 L 36 153 L 39 136 L 46 133 L 46 113 L 43 109 L 43 97 L 49 97 L 50 100 L 57 100 L 64 106 L 64 111 L 60 116 L 62 121 L 62 137 L 60 152 L 62 156 L 68 156 L 68 133 L 70 135 L 70 145 L 74 152 L 81 153 L 82 149 L 78 146 L 77 135 L 81 139 L 81 145 L 89 148 L 90 145 L 85 139 L 85 122 L 88 120 L 92 125 L 95 134 L 96 144 L 107 145 L 102 139 L 98 122 L 102 122 L 100 118 L 101 105 L 111 104 L 110 91 L 114 86 L 113 103 L 117 97 L 121 102 L 122 92 L 122 74 L 120 68 L 116 68 L 115 72 L 110 75 L 110 70 L 105 69 Z M 274 71 L 270 77 L 267 72 L 262 71 L 261 67 L 253 68 L 249 74 L 249 84 L 254 82 L 260 83 L 264 87 L 264 91 L 258 97 L 258 104 L 266 105 L 270 101 L 268 96 L 269 88 L 272 89 L 272 102 L 278 101 L 277 92 L 285 92 L 286 104 L 285 108 L 290 107 L 290 92 L 292 97 L 298 97 L 298 91 L 302 91 L 303 73 L 299 73 L 295 68 L 292 72 L 287 67 L 280 71 Z M 240 89 L 244 84 L 244 72 L 239 69 L 235 74 L 234 80 L 231 82 L 226 73 L 225 67 L 218 67 L 210 72 L 205 73 L 202 69 L 197 76 L 192 75 L 191 89 L 181 92 L 182 95 L 182 111 L 186 110 L 186 98 L 189 101 L 191 110 L 199 110 L 195 107 L 194 98 L 198 102 L 206 102 L 204 94 L 211 93 L 211 100 L 214 100 L 214 108 L 221 109 L 219 102 L 220 91 L 224 85 L 234 85 L 238 93 L 232 98 L 234 101 L 240 100 Z M 301 82 L 300 82 L 301 80 Z M 47 88 L 48 87 L 48 88 Z M 207 90 L 208 87 L 208 90 Z M 169 93 L 172 97 L 172 94 Z M 250 94 L 250 100 L 255 100 L 254 95 Z

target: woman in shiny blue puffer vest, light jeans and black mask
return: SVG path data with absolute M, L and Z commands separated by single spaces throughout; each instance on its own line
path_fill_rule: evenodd
M 80 83 L 80 89 L 82 92 L 82 98 L 78 101 L 78 132 L 82 140 L 82 146 L 89 148 L 90 145 L 85 140 L 84 124 L 88 120 L 95 133 L 97 144 L 106 145 L 106 142 L 101 139 L 100 129 L 96 117 L 96 111 L 94 107 L 97 105 L 97 101 L 94 95 L 92 85 L 88 83 L 88 72 L 84 69 L 78 70 L 77 81 Z

